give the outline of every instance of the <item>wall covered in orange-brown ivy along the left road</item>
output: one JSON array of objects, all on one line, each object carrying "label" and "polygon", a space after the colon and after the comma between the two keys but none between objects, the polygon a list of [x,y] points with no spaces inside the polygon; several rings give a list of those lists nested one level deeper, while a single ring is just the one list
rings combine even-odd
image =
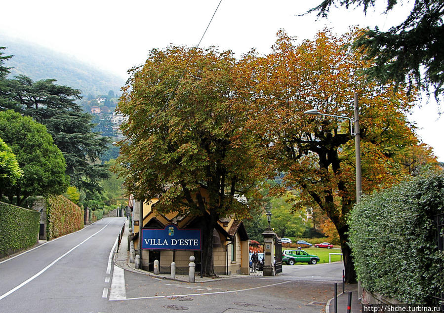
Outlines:
[{"label": "wall covered in orange-brown ivy along the left road", "polygon": [[64,196],[48,196],[46,203],[48,240],[83,228],[83,212],[74,202]]}]

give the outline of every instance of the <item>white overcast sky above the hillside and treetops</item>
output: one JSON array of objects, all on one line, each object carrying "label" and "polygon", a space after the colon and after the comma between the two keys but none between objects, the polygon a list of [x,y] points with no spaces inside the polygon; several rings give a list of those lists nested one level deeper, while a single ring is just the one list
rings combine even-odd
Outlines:
[{"label": "white overcast sky above the hillside and treetops", "polygon": [[[201,47],[231,49],[238,56],[251,48],[270,52],[276,33],[284,29],[298,39],[313,39],[324,27],[337,34],[349,26],[379,26],[387,30],[405,19],[412,3],[387,15],[380,7],[331,9],[328,19],[297,16],[320,0],[222,0]],[[403,1],[405,2],[405,1]],[[409,1],[413,2],[413,1]],[[1,4],[0,32],[68,54],[126,78],[126,71],[145,61],[151,48],[168,44],[196,46],[219,0],[13,0]],[[0,42],[1,45],[1,42]],[[353,97],[353,95],[350,95]],[[444,161],[443,117],[435,101],[412,115],[418,134]]]}]

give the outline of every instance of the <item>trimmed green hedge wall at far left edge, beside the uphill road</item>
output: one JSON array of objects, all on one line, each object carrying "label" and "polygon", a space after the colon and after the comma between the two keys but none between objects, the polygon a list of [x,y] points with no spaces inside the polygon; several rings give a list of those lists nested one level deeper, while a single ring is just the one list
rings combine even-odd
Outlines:
[{"label": "trimmed green hedge wall at far left edge, beside the uphill road", "polygon": [[39,229],[39,212],[0,202],[0,257],[35,245]]}]

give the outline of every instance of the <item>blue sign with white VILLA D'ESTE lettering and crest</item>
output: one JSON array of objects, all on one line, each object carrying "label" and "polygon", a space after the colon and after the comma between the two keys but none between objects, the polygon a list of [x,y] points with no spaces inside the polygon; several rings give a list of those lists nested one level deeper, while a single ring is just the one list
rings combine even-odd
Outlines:
[{"label": "blue sign with white VILLA D'ESTE lettering and crest", "polygon": [[142,228],[142,249],[201,250],[201,230],[179,229],[174,224],[164,229]]}]

